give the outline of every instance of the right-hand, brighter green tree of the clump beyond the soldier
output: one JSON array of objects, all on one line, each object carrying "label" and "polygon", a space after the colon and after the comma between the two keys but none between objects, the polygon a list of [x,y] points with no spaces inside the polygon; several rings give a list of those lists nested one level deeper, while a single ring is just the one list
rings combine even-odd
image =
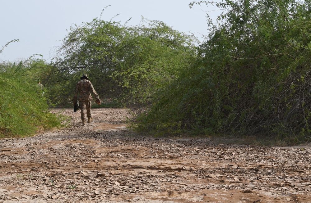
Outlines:
[{"label": "right-hand, brighter green tree of the clump beyond the soldier", "polygon": [[189,66],[195,49],[189,36],[161,21],[143,19],[140,27],[129,30],[131,35],[123,39],[118,51],[123,60],[112,78],[125,91],[124,100],[150,102],[154,93]]}]

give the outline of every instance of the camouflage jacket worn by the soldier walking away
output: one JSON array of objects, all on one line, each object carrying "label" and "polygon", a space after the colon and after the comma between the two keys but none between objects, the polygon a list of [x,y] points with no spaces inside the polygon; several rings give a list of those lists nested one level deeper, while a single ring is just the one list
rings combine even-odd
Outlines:
[{"label": "camouflage jacket worn by the soldier walking away", "polygon": [[91,94],[99,99],[98,94],[95,92],[95,89],[90,81],[87,79],[80,80],[75,88],[75,93],[73,95],[73,101],[77,101],[77,96],[79,93],[79,101],[92,101]]}]

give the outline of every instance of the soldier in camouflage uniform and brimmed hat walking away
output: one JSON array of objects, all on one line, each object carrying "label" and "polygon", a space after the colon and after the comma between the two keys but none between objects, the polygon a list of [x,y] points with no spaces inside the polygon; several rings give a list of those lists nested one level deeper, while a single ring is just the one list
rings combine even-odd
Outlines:
[{"label": "soldier in camouflage uniform and brimmed hat walking away", "polygon": [[80,110],[81,110],[81,119],[82,125],[86,125],[85,119],[85,109],[86,109],[86,116],[87,116],[87,123],[91,123],[93,118],[91,116],[91,101],[93,100],[91,94],[95,97],[95,102],[100,105],[100,99],[98,94],[95,92],[95,89],[92,83],[89,81],[89,78],[86,74],[82,74],[80,77],[80,81],[77,83],[75,88],[75,93],[73,95],[73,105],[77,102],[77,96],[79,93],[79,103],[80,103]]}]

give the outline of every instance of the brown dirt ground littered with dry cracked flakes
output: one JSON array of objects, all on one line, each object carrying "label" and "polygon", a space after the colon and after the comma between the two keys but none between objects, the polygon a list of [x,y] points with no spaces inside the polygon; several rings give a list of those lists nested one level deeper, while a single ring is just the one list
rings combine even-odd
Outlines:
[{"label": "brown dirt ground littered with dry cracked flakes", "polygon": [[142,137],[124,109],[86,126],[62,113],[66,129],[0,140],[0,202],[311,202],[310,147]]}]

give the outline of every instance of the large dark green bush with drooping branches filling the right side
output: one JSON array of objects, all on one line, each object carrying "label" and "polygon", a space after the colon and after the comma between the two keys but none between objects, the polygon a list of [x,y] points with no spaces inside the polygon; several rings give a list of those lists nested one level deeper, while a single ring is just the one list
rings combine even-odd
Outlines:
[{"label": "large dark green bush with drooping branches filling the right side", "polygon": [[225,0],[197,62],[138,117],[139,131],[310,137],[310,1]]}]

